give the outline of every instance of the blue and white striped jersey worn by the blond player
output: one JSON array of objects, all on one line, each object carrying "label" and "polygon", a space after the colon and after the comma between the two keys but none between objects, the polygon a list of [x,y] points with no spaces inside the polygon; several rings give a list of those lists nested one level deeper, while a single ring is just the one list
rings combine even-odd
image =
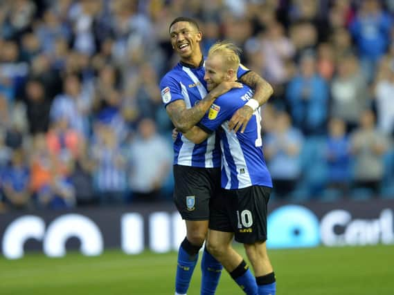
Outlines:
[{"label": "blue and white striped jersey worn by the blond player", "polygon": [[198,124],[207,133],[217,130],[216,134],[220,136],[224,189],[242,189],[252,185],[272,187],[262,151],[260,108],[253,113],[244,133],[234,133],[229,129],[232,115],[252,97],[253,91],[246,85],[231,89],[215,100]]}]

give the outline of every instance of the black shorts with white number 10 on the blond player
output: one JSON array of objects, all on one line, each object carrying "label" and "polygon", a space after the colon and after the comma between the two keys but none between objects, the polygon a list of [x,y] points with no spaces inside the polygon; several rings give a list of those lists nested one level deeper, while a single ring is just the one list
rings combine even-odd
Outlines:
[{"label": "black shorts with white number 10 on the blond player", "polygon": [[233,232],[235,240],[253,244],[267,240],[267,204],[270,187],[252,186],[244,189],[222,189],[211,206],[209,228]]}]

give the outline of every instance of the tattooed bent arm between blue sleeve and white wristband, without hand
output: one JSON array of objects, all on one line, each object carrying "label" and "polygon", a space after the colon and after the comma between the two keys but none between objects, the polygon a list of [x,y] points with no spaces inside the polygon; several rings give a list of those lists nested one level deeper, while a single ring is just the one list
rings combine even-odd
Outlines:
[{"label": "tattooed bent arm between blue sleeve and white wristband, without hand", "polygon": [[274,93],[274,89],[272,88],[271,84],[265,81],[265,79],[262,79],[260,75],[253,71],[243,75],[240,78],[240,81],[253,89],[253,99],[256,99],[260,106],[265,104],[269,97],[271,97],[272,93]]}]

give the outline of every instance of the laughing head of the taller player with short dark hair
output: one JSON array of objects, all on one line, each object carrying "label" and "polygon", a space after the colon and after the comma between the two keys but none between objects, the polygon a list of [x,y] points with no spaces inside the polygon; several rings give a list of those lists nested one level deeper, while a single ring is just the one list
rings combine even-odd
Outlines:
[{"label": "laughing head of the taller player with short dark hair", "polygon": [[189,62],[193,59],[201,60],[202,53],[199,42],[202,33],[188,21],[179,21],[170,28],[171,45],[181,57],[181,61]]}]

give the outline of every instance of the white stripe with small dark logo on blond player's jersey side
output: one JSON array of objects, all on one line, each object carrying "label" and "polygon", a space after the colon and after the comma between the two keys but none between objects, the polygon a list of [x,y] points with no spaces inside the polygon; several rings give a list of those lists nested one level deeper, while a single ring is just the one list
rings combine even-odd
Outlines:
[{"label": "white stripe with small dark logo on blond player's jersey side", "polygon": [[[238,178],[238,189],[243,189],[244,187],[251,187],[251,177],[249,175],[249,170],[247,166],[247,162],[244,158],[244,153],[242,152],[240,141],[237,138],[237,135],[229,129],[229,122],[226,121],[222,124],[222,127],[225,131],[227,142],[229,142],[229,149],[231,153],[231,157],[234,160],[235,167],[237,169],[237,178]],[[243,169],[244,173],[240,173],[241,169]]]}]

